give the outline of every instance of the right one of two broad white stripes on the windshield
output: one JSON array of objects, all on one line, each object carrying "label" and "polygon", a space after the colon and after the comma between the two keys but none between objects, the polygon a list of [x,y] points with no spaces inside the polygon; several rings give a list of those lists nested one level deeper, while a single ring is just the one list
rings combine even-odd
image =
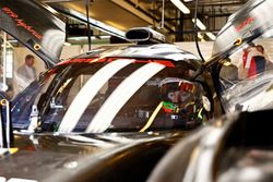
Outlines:
[{"label": "right one of two broad white stripes on the windshield", "polygon": [[104,102],[88,128],[87,133],[102,133],[109,128],[112,119],[131,98],[131,96],[153,75],[163,70],[165,65],[158,63],[149,63],[133,72],[124,80],[115,92]]}]

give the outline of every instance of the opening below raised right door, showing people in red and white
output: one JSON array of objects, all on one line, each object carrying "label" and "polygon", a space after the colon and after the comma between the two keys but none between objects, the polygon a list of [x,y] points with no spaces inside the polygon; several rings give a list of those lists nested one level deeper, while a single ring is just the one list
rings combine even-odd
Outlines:
[{"label": "opening below raised right door, showing people in red and white", "polygon": [[271,39],[261,38],[223,60],[219,72],[223,90],[240,81],[253,81],[273,69]]}]

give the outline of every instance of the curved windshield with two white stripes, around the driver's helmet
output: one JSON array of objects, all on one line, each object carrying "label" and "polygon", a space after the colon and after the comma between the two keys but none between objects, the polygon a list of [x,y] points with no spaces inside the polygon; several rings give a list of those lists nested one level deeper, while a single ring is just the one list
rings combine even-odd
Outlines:
[{"label": "curved windshield with two white stripes, around the driver's helmet", "polygon": [[45,74],[47,84],[43,84],[34,104],[39,110],[43,131],[181,129],[188,121],[201,123],[204,112],[201,102],[191,106],[192,114],[199,118],[166,112],[158,86],[165,78],[189,78],[194,72],[186,62],[174,64],[166,60],[68,63]]}]

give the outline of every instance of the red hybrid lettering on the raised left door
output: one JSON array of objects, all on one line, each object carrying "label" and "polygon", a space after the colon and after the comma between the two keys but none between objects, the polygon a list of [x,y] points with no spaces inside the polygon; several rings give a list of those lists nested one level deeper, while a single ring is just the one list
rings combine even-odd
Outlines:
[{"label": "red hybrid lettering on the raised left door", "polygon": [[16,13],[14,13],[10,8],[4,7],[4,8],[2,8],[2,11],[5,14],[8,14],[10,17],[12,17],[16,22],[17,26],[23,27],[24,29],[29,32],[32,35],[34,35],[38,39],[43,38],[43,36],[40,34],[38,34],[35,29],[33,29],[33,27],[31,25],[26,24],[23,19],[20,19],[19,15]]}]

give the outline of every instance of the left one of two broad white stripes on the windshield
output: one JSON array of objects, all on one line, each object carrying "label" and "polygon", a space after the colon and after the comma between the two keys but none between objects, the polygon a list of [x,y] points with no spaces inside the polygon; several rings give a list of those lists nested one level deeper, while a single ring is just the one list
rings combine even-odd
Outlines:
[{"label": "left one of two broad white stripes on the windshield", "polygon": [[104,68],[98,70],[82,87],[78,93],[68,111],[66,112],[61,124],[58,129],[60,133],[71,132],[83,112],[96,96],[98,90],[107,83],[107,81],[115,75],[122,68],[127,66],[134,60],[117,60],[106,64]]}]

